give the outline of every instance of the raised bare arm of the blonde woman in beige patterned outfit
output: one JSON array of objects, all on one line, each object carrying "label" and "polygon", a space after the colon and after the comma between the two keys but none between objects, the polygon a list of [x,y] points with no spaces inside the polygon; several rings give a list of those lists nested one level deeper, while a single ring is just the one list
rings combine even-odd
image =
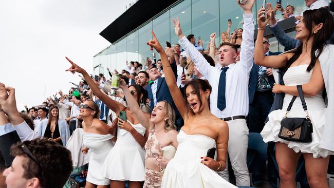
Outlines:
[{"label": "raised bare arm of the blonde woman in beige patterned outfit", "polygon": [[135,113],[139,122],[146,128],[151,129],[153,127],[153,123],[150,121],[150,118],[140,109],[136,99],[131,95],[130,90],[128,89],[125,81],[120,79],[119,86],[123,90],[123,94],[127,101],[127,105],[130,107],[131,111]]}]

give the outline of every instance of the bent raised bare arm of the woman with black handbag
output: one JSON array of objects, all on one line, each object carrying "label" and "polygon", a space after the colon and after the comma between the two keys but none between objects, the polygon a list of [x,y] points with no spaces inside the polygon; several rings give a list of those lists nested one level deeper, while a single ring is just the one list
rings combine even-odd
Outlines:
[{"label": "bent raised bare arm of the woman with black handbag", "polygon": [[[269,14],[271,14],[272,10],[268,10],[267,15],[263,15],[265,13],[265,9],[261,8],[257,13],[257,37],[255,42],[255,50],[254,50],[254,62],[256,65],[272,67],[272,68],[281,68],[285,67],[286,62],[288,61],[288,54],[282,55],[270,55],[265,56],[263,50],[263,33],[266,25],[269,21]],[[263,20],[265,18],[265,20]]]}]

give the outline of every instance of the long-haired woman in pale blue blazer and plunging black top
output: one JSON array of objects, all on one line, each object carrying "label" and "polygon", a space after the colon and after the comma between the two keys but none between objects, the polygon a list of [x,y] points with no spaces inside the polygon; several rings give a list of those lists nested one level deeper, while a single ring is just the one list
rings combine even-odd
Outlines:
[{"label": "long-haired woman in pale blue blazer and plunging black top", "polygon": [[50,107],[49,116],[48,121],[41,122],[40,130],[38,131],[39,136],[58,142],[65,147],[70,137],[67,122],[59,119],[59,109],[57,106]]}]

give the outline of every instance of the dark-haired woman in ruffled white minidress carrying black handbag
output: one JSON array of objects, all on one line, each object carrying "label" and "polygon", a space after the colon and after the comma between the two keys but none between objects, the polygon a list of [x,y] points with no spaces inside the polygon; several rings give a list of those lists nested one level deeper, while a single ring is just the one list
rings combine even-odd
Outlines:
[{"label": "dark-haired woman in ruffled white minidress carrying black handbag", "polygon": [[[334,21],[326,9],[307,10],[301,22],[296,25],[296,39],[302,44],[295,52],[279,56],[263,55],[263,31],[269,21],[272,10],[263,15],[264,9],[258,11],[258,33],[255,44],[255,64],[281,68],[286,72],[283,80],[285,85],[275,84],[273,92],[284,92],[282,110],[275,110],[269,114],[269,121],[263,128],[261,135],[265,142],[276,142],[276,160],[279,165],[281,187],[296,187],[295,172],[301,155],[305,159],[308,183],[311,187],[328,187],[327,167],[329,155],[333,152],[319,147],[322,139],[326,105],[322,98],[324,80],[318,60],[324,44],[334,30]],[[265,21],[264,21],[264,20]],[[316,54],[317,51],[317,54]],[[281,120],[293,96],[297,96],[287,117],[306,117],[296,85],[302,85],[308,114],[313,124],[312,142],[293,142],[278,137]]]}]

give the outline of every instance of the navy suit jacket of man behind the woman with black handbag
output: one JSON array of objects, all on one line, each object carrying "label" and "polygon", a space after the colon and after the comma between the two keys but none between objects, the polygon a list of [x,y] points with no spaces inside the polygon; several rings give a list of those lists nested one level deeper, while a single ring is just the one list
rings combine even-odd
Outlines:
[{"label": "navy suit jacket of man behind the woman with black handbag", "polygon": [[[279,55],[281,52],[271,52],[269,51],[269,55]],[[253,103],[254,95],[255,95],[255,87],[257,83],[258,76],[258,65],[253,64],[252,70],[249,74],[249,90],[248,90],[248,98],[249,104]],[[273,76],[268,77],[269,84],[271,88],[273,87],[275,80]],[[272,93],[272,97],[274,97],[274,93]]]}]

